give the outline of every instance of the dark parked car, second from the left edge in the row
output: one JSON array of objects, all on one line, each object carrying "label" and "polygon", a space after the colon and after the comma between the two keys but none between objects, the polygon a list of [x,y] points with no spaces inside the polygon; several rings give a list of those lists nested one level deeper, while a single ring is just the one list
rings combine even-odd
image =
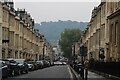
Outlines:
[{"label": "dark parked car, second from the left edge in the row", "polygon": [[5,64],[8,66],[8,74],[9,76],[20,75],[20,68],[16,61],[13,59],[4,59]]}]

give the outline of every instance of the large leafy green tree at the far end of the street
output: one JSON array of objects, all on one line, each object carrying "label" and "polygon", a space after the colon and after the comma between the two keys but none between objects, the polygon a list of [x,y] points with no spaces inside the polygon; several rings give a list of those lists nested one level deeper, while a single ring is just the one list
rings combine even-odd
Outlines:
[{"label": "large leafy green tree at the far end of the street", "polygon": [[66,28],[61,33],[60,45],[63,51],[63,56],[67,58],[72,57],[72,44],[77,42],[81,37],[82,31],[79,28]]}]

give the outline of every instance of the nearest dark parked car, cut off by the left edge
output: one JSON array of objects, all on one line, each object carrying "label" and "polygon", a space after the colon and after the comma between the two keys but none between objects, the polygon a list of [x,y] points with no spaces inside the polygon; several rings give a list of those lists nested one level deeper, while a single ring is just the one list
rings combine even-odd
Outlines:
[{"label": "nearest dark parked car, cut off by the left edge", "polygon": [[0,61],[0,78],[8,77],[8,66],[4,61]]}]

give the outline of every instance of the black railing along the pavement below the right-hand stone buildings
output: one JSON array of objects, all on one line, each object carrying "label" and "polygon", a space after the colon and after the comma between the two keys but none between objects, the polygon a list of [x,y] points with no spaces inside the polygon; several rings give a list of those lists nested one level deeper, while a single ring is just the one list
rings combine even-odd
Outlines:
[{"label": "black railing along the pavement below the right-hand stone buildings", "polygon": [[120,77],[120,62],[94,62],[93,64],[90,64],[90,69]]}]

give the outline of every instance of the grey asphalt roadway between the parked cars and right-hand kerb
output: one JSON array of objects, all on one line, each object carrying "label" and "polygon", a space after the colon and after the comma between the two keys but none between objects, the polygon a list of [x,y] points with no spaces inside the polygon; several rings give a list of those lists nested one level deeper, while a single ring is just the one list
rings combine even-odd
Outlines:
[{"label": "grey asphalt roadway between the parked cars and right-hand kerb", "polygon": [[13,79],[62,79],[62,80],[70,80],[72,79],[72,73],[68,66],[53,66],[44,69],[40,69],[37,71],[29,72],[28,74],[23,74],[16,77],[11,77],[5,80],[13,80]]}]

